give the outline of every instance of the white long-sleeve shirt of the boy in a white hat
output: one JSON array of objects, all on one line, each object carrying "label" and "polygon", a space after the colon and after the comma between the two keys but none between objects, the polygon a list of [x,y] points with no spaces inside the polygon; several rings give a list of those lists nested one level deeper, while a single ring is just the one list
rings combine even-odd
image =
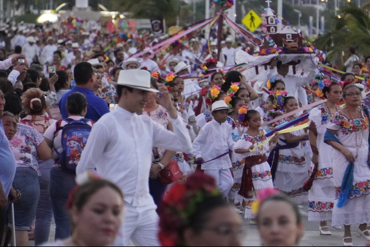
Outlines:
[{"label": "white long-sleeve shirt of the boy in a white hat", "polygon": [[[234,150],[236,142],[232,139],[231,128],[230,124],[226,122],[220,124],[215,119],[206,123],[193,142],[195,158],[202,157],[204,161],[208,161],[228,152],[229,149]],[[203,170],[227,168],[231,168],[231,159],[228,154],[202,164]]]}]

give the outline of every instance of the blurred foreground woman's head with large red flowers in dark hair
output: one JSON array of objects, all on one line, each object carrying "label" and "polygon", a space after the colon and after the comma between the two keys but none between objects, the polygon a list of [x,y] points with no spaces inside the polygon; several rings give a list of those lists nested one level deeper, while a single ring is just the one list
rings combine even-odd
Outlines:
[{"label": "blurred foreground woman's head with large red flowers in dark hair", "polygon": [[240,246],[242,220],[223,199],[215,180],[189,175],[165,194],[159,215],[161,246]]}]

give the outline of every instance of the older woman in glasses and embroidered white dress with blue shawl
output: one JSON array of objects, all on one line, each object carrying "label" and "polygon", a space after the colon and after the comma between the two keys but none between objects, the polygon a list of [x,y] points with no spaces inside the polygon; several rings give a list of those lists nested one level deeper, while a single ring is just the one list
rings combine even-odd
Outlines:
[{"label": "older woman in glasses and embroidered white dress with blue shawl", "polygon": [[[337,111],[324,141],[334,149],[333,170],[336,199],[333,226],[344,225],[344,246],[353,246],[351,225],[359,226],[358,236],[370,241],[370,152],[369,108],[361,108],[361,92],[356,84],[343,88],[346,105]],[[346,193],[347,192],[347,193]]]}]

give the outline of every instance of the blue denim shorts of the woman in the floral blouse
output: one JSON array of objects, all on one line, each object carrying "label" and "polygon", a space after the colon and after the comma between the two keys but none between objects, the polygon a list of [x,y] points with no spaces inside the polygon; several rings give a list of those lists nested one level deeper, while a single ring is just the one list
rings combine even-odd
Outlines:
[{"label": "blue denim shorts of the woman in the floral blouse", "polygon": [[[17,167],[13,188],[22,193],[19,201],[14,203],[14,224],[16,230],[31,230],[35,217],[40,184],[37,172],[30,167]],[[8,226],[11,226],[11,209],[8,207]]]}]

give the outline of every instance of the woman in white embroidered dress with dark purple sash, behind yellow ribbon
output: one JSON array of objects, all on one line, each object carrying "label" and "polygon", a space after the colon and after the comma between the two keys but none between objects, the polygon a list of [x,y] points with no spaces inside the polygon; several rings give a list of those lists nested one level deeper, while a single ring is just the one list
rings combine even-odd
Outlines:
[{"label": "woman in white embroidered dress with dark purple sash, behind yellow ribbon", "polygon": [[[279,104],[283,102],[286,113],[298,109],[297,100],[292,96],[286,97],[286,92],[278,96],[278,101]],[[293,119],[294,115],[286,118],[286,121]],[[300,143],[305,138],[308,138],[308,134],[303,129],[284,133],[268,158],[274,186],[293,197],[298,204],[308,201],[308,191],[303,189],[303,183],[309,178],[309,166]]]}]

